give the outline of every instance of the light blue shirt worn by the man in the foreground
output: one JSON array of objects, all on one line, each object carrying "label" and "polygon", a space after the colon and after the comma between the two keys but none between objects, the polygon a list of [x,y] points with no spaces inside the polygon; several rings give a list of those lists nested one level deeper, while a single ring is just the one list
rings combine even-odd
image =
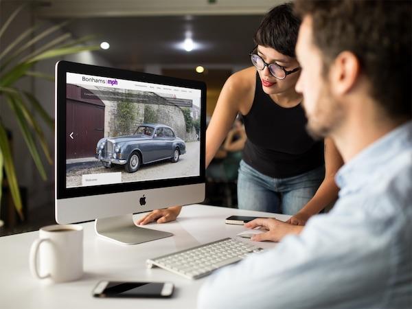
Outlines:
[{"label": "light blue shirt worn by the man in the foreground", "polygon": [[207,279],[199,308],[412,308],[412,122],[336,174],[339,200],[299,236]]}]

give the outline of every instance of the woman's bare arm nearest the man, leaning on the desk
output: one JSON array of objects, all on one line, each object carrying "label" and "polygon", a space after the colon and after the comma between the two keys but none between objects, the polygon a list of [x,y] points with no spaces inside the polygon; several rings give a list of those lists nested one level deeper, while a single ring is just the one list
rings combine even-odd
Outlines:
[{"label": "woman's bare arm nearest the man, leaning on the desk", "polygon": [[336,183],[334,182],[334,176],[342,165],[343,159],[339,154],[336,146],[334,145],[334,142],[332,141],[332,139],[326,138],[325,179],[323,179],[313,198],[311,198],[310,201],[297,212],[297,214],[295,214],[286,222],[292,223],[293,225],[305,225],[306,221],[311,216],[318,214],[319,211],[336,200],[339,192],[339,187],[337,187]]}]

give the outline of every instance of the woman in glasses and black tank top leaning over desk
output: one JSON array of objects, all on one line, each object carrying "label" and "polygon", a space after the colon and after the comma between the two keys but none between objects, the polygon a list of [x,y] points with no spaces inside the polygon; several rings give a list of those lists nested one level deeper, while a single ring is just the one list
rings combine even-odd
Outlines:
[{"label": "woman in glasses and black tank top leaning over desk", "polygon": [[[206,166],[241,113],[248,139],[240,162],[238,207],[290,214],[289,223],[304,225],[336,199],[334,174],[343,161],[332,141],[314,141],[306,133],[302,96],[295,91],[300,21],[292,10],[286,3],[264,16],[250,54],[253,67],[225,82],[207,128]],[[168,222],[180,211],[180,206],[158,209],[137,223]]]}]

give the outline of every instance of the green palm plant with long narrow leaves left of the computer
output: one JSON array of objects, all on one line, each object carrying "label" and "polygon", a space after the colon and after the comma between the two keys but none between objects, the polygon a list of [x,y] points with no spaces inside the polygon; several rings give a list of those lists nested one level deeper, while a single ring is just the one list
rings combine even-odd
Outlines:
[{"label": "green palm plant with long narrow leaves left of the computer", "polygon": [[[0,27],[0,39],[24,7],[25,5],[22,5],[17,8]],[[40,33],[38,26],[34,25],[19,34],[10,45],[0,49],[0,97],[4,98],[4,104],[8,105],[15,121],[19,124],[25,144],[43,180],[47,179],[47,175],[40,153],[43,152],[49,164],[52,164],[53,161],[43,129],[34,114],[38,115],[39,120],[47,124],[50,130],[54,129],[54,119],[48,115],[32,93],[20,89],[16,83],[27,77],[45,78],[53,81],[54,76],[34,71],[34,65],[48,58],[99,49],[98,45],[84,45],[91,40],[91,36],[73,39],[69,33],[61,34],[65,24],[67,22],[49,27]],[[59,35],[56,36],[57,33]],[[46,43],[44,43],[45,41]],[[42,43],[40,47],[37,46],[39,42]],[[40,153],[38,146],[41,148]],[[5,175],[3,175],[3,171]],[[23,220],[21,196],[10,141],[0,115],[0,201],[4,176],[6,176],[5,185],[10,190],[16,211]]]}]

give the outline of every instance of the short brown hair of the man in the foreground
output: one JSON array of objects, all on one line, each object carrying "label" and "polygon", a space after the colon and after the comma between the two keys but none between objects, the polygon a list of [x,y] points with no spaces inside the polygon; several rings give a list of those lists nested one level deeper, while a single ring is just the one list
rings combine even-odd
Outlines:
[{"label": "short brown hair of the man in the foreground", "polygon": [[297,0],[295,13],[312,17],[314,45],[323,72],[334,58],[352,52],[371,83],[371,96],[392,117],[411,117],[410,1]]}]

